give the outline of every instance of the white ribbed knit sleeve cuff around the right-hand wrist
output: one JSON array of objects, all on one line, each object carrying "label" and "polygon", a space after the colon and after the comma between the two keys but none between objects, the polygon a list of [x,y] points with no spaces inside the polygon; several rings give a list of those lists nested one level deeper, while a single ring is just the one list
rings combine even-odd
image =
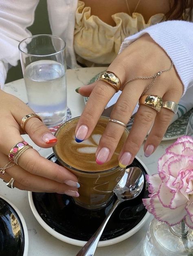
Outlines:
[{"label": "white ribbed knit sleeve cuff around the right-hand wrist", "polygon": [[150,26],[125,38],[120,52],[145,33],[169,55],[184,85],[185,93],[193,85],[193,22],[172,20]]}]

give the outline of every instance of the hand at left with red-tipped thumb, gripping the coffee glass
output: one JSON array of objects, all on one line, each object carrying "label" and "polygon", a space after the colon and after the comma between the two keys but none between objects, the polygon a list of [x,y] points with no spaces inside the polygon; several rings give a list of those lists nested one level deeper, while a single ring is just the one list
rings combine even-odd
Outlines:
[{"label": "hand at left with red-tipped thumb, gripping the coffee glass", "polygon": [[[4,167],[8,162],[8,154],[11,148],[23,138],[20,134],[22,117],[34,113],[17,97],[0,90],[0,167]],[[26,133],[31,139],[42,148],[53,147],[57,139],[48,128],[38,119],[31,118],[26,122]],[[77,177],[65,168],[41,157],[32,148],[26,150],[19,158],[18,165],[5,170],[5,174],[0,174],[0,178],[9,182],[15,179],[14,186],[21,190],[34,192],[56,192],[79,196],[77,188]]]}]

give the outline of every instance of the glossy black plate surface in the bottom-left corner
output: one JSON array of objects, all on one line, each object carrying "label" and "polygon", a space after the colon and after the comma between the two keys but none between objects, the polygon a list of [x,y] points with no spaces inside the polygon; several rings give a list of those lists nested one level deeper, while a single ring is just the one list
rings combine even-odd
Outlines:
[{"label": "glossy black plate surface in the bottom-left corner", "polygon": [[0,197],[0,256],[23,256],[24,230],[13,207]]}]

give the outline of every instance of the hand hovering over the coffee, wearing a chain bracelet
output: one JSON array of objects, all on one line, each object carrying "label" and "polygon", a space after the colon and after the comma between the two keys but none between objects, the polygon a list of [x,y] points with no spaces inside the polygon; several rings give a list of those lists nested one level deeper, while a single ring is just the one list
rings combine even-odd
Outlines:
[{"label": "hand hovering over the coffee, wearing a chain bracelet", "polygon": [[[124,49],[107,70],[115,73],[123,86],[129,79],[152,76],[170,66],[171,60],[165,51],[148,34],[145,34]],[[110,118],[127,124],[141,94],[151,82],[151,79],[136,79],[129,82],[114,105]],[[163,101],[178,103],[182,91],[182,82],[173,67],[170,71],[162,73],[145,94],[158,95]],[[102,80],[79,88],[81,95],[90,97],[77,124],[75,132],[78,139],[87,139],[90,136],[107,102],[115,92],[112,86]],[[174,113],[166,108],[162,108],[157,113],[153,108],[140,105],[118,158],[120,166],[124,167],[132,163],[153,124],[144,145],[145,156],[149,157],[162,140],[173,115]],[[111,159],[123,130],[124,127],[121,125],[113,122],[107,124],[96,150],[96,162],[105,163]]]}]

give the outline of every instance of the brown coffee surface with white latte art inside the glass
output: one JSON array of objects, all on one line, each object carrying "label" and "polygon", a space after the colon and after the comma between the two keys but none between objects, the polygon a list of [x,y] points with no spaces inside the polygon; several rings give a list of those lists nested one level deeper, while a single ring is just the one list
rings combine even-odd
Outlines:
[{"label": "brown coffee surface with white latte art inside the glass", "polygon": [[78,120],[72,119],[57,134],[58,143],[55,150],[59,158],[69,166],[84,171],[103,171],[118,166],[118,154],[127,137],[127,132],[123,133],[112,159],[103,165],[96,163],[95,152],[107,121],[108,119],[101,117],[91,136],[87,140],[77,143],[75,141],[75,128]]}]

